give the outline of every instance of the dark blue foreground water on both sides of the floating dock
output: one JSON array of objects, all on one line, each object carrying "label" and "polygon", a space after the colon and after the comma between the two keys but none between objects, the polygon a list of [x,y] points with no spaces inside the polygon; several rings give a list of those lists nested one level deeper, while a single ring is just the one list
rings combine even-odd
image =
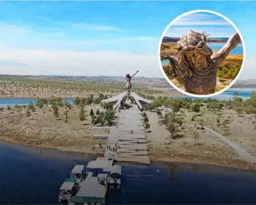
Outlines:
[{"label": "dark blue foreground water on both sides of the floating dock", "polygon": [[[58,204],[59,187],[73,166],[95,159],[41,151],[0,143],[0,204]],[[119,165],[122,188],[109,190],[108,204],[256,203],[255,171],[188,164]]]}]

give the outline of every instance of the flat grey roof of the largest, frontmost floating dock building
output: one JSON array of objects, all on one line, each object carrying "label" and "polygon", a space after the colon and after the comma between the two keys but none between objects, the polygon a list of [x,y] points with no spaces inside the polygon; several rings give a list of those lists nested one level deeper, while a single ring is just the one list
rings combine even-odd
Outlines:
[{"label": "flat grey roof of the largest, frontmost floating dock building", "polygon": [[89,177],[80,184],[80,189],[77,192],[76,197],[97,197],[105,198],[107,193],[107,187],[101,185],[98,182],[98,178]]}]

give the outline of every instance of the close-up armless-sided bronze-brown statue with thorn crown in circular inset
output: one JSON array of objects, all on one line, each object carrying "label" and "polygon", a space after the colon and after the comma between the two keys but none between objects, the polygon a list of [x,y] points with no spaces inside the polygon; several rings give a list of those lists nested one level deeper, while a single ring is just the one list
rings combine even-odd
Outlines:
[{"label": "close-up armless-sided bronze-brown statue with thorn crown in circular inset", "polygon": [[215,93],[218,65],[241,43],[238,32],[235,32],[223,48],[213,55],[212,49],[207,45],[207,36],[204,32],[187,32],[178,41],[178,57],[165,56],[182,90],[188,93]]}]

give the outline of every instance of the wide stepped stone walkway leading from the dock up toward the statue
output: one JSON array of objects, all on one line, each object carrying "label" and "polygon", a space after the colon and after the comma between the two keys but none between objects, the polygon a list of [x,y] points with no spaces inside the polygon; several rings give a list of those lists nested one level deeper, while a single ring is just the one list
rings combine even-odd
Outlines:
[{"label": "wide stepped stone walkway leading from the dock up toward the statue", "polygon": [[141,112],[137,106],[133,106],[118,113],[118,127],[110,130],[107,146],[119,147],[115,153],[118,162],[150,164]]}]

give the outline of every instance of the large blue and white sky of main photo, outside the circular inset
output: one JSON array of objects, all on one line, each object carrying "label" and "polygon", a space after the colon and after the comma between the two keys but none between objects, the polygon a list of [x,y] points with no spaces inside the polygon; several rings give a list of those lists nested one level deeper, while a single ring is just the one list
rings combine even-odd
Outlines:
[{"label": "large blue and white sky of main photo, outside the circular inset", "polygon": [[137,76],[164,77],[160,37],[173,19],[197,9],[236,24],[246,45],[239,79],[256,79],[252,1],[0,1],[0,73],[125,76],[139,70]]}]

